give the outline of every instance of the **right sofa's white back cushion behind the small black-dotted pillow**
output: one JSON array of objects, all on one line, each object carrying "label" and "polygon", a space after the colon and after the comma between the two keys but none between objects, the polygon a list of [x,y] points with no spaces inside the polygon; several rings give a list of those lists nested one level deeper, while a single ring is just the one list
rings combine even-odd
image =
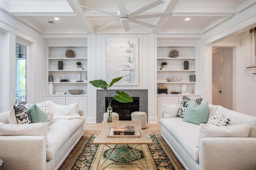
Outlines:
[{"label": "right sofa's white back cushion behind the small black-dotted pillow", "polygon": [[230,117],[232,125],[249,125],[250,132],[248,137],[256,137],[256,117],[238,113],[236,111],[226,109],[222,106],[218,106],[216,111],[218,111],[223,118]]}]

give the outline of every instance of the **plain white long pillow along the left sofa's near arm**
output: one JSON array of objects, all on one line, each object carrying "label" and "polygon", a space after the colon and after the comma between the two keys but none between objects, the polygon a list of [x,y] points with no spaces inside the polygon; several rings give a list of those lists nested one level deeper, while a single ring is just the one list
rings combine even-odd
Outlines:
[{"label": "plain white long pillow along the left sofa's near arm", "polygon": [[[47,123],[4,124],[0,123],[0,136],[44,136],[47,140]],[[47,140],[48,145],[48,140]]]}]

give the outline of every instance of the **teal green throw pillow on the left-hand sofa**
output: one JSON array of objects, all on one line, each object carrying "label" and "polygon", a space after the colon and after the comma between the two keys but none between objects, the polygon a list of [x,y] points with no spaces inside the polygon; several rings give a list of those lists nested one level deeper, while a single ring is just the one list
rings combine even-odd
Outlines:
[{"label": "teal green throw pillow on the left-hand sofa", "polygon": [[36,104],[33,104],[28,109],[31,123],[47,122],[47,115],[38,107]]}]

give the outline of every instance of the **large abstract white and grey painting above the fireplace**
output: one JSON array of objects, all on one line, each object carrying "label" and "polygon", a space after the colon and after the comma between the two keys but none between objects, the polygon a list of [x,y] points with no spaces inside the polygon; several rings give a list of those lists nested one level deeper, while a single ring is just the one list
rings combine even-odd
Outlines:
[{"label": "large abstract white and grey painting above the fireplace", "polygon": [[115,86],[139,85],[138,38],[106,39],[106,79],[123,77]]}]

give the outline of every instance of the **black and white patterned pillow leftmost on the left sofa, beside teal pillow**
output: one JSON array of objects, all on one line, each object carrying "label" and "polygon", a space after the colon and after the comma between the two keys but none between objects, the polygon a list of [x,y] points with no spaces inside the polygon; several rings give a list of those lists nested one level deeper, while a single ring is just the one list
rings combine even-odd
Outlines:
[{"label": "black and white patterned pillow leftmost on the left sofa, beside teal pillow", "polygon": [[14,105],[9,113],[9,123],[12,124],[28,124],[31,123],[28,109],[21,103]]}]

